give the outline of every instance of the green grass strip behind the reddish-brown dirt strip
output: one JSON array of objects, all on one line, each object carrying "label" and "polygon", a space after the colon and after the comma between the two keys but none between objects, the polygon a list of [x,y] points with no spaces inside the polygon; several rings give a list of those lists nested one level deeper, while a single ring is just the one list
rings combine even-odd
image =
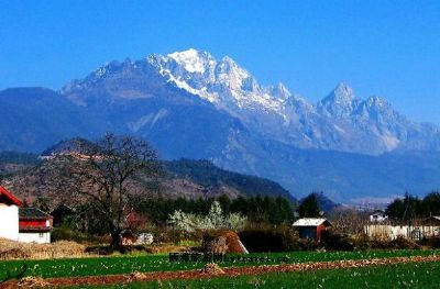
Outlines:
[{"label": "green grass strip behind the reddish-brown dirt strip", "polygon": [[[286,254],[270,254],[271,258],[287,256],[288,263],[327,262],[342,259],[370,259],[397,256],[440,255],[440,251],[373,251],[373,252],[293,252]],[[250,254],[246,256],[265,256]],[[226,266],[251,266],[274,263],[223,263]],[[169,263],[167,255],[112,256],[100,258],[46,259],[46,260],[10,260],[0,262],[0,280],[16,276],[26,270],[23,276],[75,277],[130,274],[133,271],[168,271],[187,270],[204,267],[205,263]],[[21,276],[20,276],[21,277]]]}]

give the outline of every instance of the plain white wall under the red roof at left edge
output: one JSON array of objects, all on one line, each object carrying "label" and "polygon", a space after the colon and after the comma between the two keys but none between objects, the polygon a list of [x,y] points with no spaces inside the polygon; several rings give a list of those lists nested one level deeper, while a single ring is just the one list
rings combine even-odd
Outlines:
[{"label": "plain white wall under the red roof at left edge", "polygon": [[19,240],[19,207],[0,203],[0,237]]}]

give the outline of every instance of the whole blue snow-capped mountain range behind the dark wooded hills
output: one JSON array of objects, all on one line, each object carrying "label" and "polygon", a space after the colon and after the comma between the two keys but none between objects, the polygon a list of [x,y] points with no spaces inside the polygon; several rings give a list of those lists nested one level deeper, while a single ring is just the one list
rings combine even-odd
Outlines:
[{"label": "whole blue snow-capped mountain range behind the dark wooded hills", "polygon": [[148,140],[166,159],[204,158],[340,202],[440,186],[440,130],[339,84],[318,103],[262,86],[230,57],[188,49],[111,62],[58,91],[0,92],[0,149],[40,153],[105,132]]}]

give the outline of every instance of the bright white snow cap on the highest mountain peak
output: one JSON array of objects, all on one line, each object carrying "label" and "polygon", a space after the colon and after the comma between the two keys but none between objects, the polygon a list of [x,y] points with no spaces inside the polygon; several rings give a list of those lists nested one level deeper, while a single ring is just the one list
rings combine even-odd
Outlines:
[{"label": "bright white snow cap on the highest mountain peak", "polygon": [[[169,82],[231,112],[238,109],[279,111],[282,108],[280,99],[272,95],[271,88],[261,87],[248,70],[228,56],[217,60],[207,52],[191,48],[166,56],[152,55],[147,62]],[[285,87],[275,93],[290,95]]]}]

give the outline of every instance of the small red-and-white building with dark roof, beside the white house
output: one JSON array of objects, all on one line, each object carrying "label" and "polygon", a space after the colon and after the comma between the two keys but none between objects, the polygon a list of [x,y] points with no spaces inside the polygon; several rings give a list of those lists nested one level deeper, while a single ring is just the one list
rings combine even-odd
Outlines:
[{"label": "small red-and-white building with dark roof, beside the white house", "polygon": [[19,242],[51,243],[51,232],[53,229],[52,215],[36,208],[20,208],[19,216]]}]

